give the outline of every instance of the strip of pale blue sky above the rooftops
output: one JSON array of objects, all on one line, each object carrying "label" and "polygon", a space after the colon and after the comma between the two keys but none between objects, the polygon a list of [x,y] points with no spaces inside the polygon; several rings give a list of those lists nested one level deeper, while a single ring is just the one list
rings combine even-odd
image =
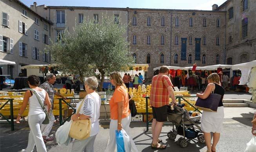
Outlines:
[{"label": "strip of pale blue sky above the rooftops", "polygon": [[226,0],[21,0],[25,5],[212,10]]}]

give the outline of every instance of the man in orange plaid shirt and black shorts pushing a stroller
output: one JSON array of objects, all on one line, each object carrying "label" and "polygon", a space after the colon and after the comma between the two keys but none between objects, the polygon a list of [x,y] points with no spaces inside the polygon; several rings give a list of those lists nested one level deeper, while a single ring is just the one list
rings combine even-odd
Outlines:
[{"label": "man in orange plaid shirt and black shorts pushing a stroller", "polygon": [[153,111],[153,122],[151,125],[153,141],[151,148],[165,149],[166,146],[159,144],[162,140],[158,137],[162,131],[163,122],[167,121],[167,106],[169,105],[169,97],[172,99],[172,105],[176,105],[173,86],[168,76],[169,68],[162,66],[159,74],[152,78],[150,104]]}]

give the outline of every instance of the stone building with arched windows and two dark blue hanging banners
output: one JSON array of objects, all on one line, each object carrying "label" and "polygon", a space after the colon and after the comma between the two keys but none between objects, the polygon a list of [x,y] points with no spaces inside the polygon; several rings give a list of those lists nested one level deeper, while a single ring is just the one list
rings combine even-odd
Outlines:
[{"label": "stone building with arched windows and two dark blue hanging banners", "polygon": [[128,9],[128,41],[138,64],[223,64],[225,11]]}]

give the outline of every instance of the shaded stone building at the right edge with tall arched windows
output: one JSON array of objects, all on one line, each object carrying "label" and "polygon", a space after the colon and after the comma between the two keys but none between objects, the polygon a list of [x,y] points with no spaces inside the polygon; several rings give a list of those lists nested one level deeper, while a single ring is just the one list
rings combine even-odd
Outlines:
[{"label": "shaded stone building at the right edge with tall arched windows", "polygon": [[214,4],[214,11],[226,11],[226,64],[240,64],[256,60],[256,1],[227,0]]}]

